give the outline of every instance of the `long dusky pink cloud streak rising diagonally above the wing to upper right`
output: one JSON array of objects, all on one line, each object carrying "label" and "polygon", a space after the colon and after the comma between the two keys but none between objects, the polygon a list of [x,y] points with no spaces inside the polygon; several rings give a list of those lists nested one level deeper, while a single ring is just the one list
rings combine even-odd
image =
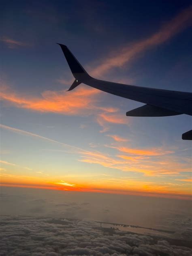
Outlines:
[{"label": "long dusky pink cloud streak rising diagonally above the wing to upper right", "polygon": [[115,49],[114,54],[105,57],[98,67],[90,70],[91,75],[99,77],[114,67],[122,67],[127,62],[133,59],[135,60],[141,52],[171,39],[177,33],[189,26],[191,22],[192,7],[190,6],[176,15],[170,22],[164,24],[158,32],[155,32],[150,37],[138,41],[137,43],[132,43],[132,45],[128,45],[122,49]]}]

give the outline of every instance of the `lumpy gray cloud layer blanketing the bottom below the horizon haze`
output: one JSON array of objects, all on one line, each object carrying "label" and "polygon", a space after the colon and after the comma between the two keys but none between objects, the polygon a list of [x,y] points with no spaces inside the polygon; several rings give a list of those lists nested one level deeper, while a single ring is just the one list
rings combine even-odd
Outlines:
[{"label": "lumpy gray cloud layer blanketing the bottom below the horizon haze", "polygon": [[42,217],[1,219],[1,256],[191,256],[176,240],[101,228],[88,220]]}]

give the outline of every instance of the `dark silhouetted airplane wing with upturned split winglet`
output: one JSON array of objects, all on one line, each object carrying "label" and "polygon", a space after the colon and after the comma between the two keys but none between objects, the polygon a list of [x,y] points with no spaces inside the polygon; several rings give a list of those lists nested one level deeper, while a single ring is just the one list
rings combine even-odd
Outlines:
[{"label": "dark silhouetted airplane wing with upturned split winglet", "polygon": [[[192,116],[192,93],[98,80],[85,71],[66,45],[59,43],[58,45],[62,48],[70,70],[75,77],[69,90],[73,90],[83,83],[113,95],[145,103],[142,107],[128,111],[126,116],[174,116],[180,114]],[[183,133],[182,138],[183,140],[192,140],[192,130],[188,131],[187,136]]]}]

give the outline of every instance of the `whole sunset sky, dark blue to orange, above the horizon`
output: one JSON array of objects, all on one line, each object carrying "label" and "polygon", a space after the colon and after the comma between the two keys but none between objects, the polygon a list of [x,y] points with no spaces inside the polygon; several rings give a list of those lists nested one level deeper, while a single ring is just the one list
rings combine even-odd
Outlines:
[{"label": "whole sunset sky, dark blue to orange, above the horizon", "polygon": [[190,1],[6,1],[0,10],[2,186],[190,199],[190,116],[127,117],[141,103],[93,77],[191,92]]}]

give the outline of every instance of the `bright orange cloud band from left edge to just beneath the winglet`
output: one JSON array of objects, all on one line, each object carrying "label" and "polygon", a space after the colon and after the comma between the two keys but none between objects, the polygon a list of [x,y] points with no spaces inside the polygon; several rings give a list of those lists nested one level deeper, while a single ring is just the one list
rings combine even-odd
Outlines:
[{"label": "bright orange cloud band from left edge to just beneath the winglet", "polygon": [[[17,95],[7,88],[3,88],[0,92],[0,99],[9,101],[9,103],[18,108],[72,115],[85,111],[88,112],[90,109],[97,109],[94,103],[96,102],[96,94],[98,93],[100,93],[99,90],[81,86],[78,90],[70,93],[64,90],[45,91],[42,93],[42,97],[28,98]],[[109,108],[109,111],[111,112],[111,108]]]}]

